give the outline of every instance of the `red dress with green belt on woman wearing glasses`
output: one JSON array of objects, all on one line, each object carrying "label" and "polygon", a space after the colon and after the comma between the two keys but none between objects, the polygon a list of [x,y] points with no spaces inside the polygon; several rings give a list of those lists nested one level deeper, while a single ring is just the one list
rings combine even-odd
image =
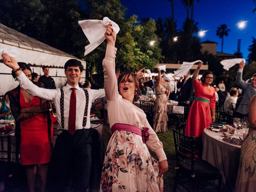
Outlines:
[{"label": "red dress with green belt on woman wearing glasses", "polygon": [[212,123],[211,108],[215,108],[215,90],[213,87],[206,87],[198,80],[193,81],[195,87],[194,96],[210,100],[205,101],[194,100],[188,114],[185,134],[188,136],[202,137],[204,128]]}]

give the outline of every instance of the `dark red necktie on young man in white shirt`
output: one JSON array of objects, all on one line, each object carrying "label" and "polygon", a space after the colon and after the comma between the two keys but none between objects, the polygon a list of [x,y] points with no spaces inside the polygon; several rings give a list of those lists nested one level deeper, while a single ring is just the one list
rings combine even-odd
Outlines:
[{"label": "dark red necktie on young man in white shirt", "polygon": [[76,88],[71,88],[68,117],[68,132],[73,135],[76,131]]}]

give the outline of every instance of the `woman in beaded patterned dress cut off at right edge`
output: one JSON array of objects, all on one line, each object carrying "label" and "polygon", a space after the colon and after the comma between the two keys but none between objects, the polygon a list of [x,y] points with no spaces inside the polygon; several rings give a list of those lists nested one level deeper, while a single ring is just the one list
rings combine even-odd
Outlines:
[{"label": "woman in beaded patterned dress cut off at right edge", "polygon": [[249,104],[249,132],[241,146],[236,192],[256,191],[256,95]]}]

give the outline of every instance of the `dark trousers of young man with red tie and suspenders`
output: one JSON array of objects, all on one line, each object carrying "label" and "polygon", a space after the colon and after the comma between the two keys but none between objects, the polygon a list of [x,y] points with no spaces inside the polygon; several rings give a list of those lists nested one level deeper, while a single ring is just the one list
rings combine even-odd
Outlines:
[{"label": "dark trousers of young man with red tie and suspenders", "polygon": [[85,192],[92,164],[90,129],[76,130],[74,135],[63,130],[56,139],[52,158],[54,192]]}]

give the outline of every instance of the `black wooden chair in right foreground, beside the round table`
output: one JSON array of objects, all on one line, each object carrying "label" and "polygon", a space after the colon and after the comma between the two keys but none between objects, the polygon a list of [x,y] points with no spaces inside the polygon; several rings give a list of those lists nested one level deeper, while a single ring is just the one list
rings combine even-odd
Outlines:
[{"label": "black wooden chair in right foreground, beside the round table", "polygon": [[[176,151],[174,192],[178,185],[187,191],[210,188],[218,188],[221,191],[222,175],[218,169],[205,160],[195,158],[196,138],[186,136],[176,129],[173,130],[173,136]],[[218,180],[218,186],[212,184],[212,180]]]}]

